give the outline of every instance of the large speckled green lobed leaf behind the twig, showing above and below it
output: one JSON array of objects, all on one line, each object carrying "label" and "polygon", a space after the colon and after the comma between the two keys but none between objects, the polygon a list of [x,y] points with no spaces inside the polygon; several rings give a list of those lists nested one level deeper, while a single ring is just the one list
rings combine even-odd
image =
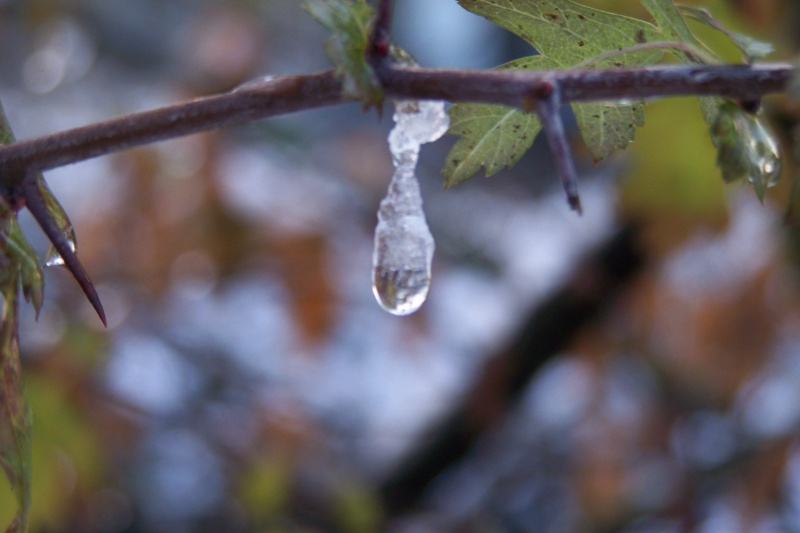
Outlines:
[{"label": "large speckled green lobed leaf behind the twig, showing above and below it", "polygon": [[[507,63],[509,70],[642,66],[657,62],[660,49],[637,49],[663,40],[658,28],[575,2],[460,0],[463,7],[516,33],[541,55]],[[608,54],[611,52],[612,54]],[[608,57],[593,59],[606,54]],[[639,103],[572,105],[584,142],[596,160],[625,148],[644,123]],[[450,110],[450,134],[462,138],[447,157],[445,186],[463,182],[483,166],[490,176],[513,166],[539,132],[536,117],[503,106],[456,104]]]}]

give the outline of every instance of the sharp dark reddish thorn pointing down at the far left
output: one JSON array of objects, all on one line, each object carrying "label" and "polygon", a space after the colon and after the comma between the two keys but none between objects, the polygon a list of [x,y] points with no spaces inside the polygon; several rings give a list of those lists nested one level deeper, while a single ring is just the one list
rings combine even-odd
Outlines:
[{"label": "sharp dark reddish thorn pointing down at the far left", "polygon": [[67,269],[69,269],[70,273],[72,273],[75,281],[78,282],[81,290],[83,290],[83,294],[86,295],[89,303],[92,304],[92,307],[94,307],[94,310],[97,312],[97,316],[100,317],[100,321],[103,323],[103,326],[108,327],[108,323],[106,322],[106,313],[103,310],[103,304],[100,303],[100,296],[98,296],[97,290],[95,290],[94,284],[89,278],[89,275],[86,273],[86,270],[84,270],[83,265],[81,265],[81,262],[78,261],[78,256],[72,251],[72,247],[67,241],[66,236],[56,225],[55,221],[50,216],[50,213],[48,213],[47,206],[40,195],[35,180],[25,181],[25,184],[22,187],[22,198],[25,200],[25,205],[27,206],[28,211],[31,212],[31,215],[33,215],[33,218],[36,220],[36,222],[39,223],[39,227],[42,228],[44,234],[64,260],[64,265],[67,267]]}]

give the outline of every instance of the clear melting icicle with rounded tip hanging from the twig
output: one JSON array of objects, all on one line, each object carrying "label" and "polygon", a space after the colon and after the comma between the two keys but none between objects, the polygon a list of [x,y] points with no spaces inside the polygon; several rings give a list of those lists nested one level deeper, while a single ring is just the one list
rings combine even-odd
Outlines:
[{"label": "clear melting icicle with rounded tip hanging from the twig", "polygon": [[372,291],[385,310],[408,315],[428,296],[435,248],[415,175],[419,147],[444,135],[450,121],[444,103],[430,101],[396,102],[394,120],[389,150],[395,172],[378,209]]}]

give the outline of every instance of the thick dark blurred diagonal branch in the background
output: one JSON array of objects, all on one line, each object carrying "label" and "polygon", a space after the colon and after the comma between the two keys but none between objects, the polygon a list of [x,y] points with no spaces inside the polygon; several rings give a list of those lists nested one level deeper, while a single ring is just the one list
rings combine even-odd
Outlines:
[{"label": "thick dark blurred diagonal branch in the background", "polygon": [[381,484],[388,520],[417,509],[431,482],[502,423],[536,372],[567,349],[576,333],[631,282],[645,262],[637,242],[636,227],[622,229],[579,265],[560,290],[537,305],[516,339],[477,373],[470,394],[433,430],[434,437],[401,461]]}]

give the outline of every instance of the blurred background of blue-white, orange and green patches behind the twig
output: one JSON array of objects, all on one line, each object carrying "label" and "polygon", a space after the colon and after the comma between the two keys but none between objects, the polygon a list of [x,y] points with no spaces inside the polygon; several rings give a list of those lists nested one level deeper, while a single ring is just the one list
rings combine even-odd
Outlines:
[{"label": "blurred background of blue-white, orange and green patches behind the twig", "polygon": [[[797,2],[702,5],[775,60],[800,44]],[[0,98],[30,138],[326,69],[324,37],[290,0],[2,0]],[[531,53],[454,0],[398,1],[395,40],[425,66]],[[47,173],[109,327],[57,268],[22,311],[31,531],[800,531],[800,109],[764,106],[787,157],[763,206],[691,99],[597,165],[576,135],[583,217],[542,139],[448,191],[453,139],[426,145],[433,282],[402,318],[370,287],[388,112]],[[0,523],[13,502],[0,483]]]}]

